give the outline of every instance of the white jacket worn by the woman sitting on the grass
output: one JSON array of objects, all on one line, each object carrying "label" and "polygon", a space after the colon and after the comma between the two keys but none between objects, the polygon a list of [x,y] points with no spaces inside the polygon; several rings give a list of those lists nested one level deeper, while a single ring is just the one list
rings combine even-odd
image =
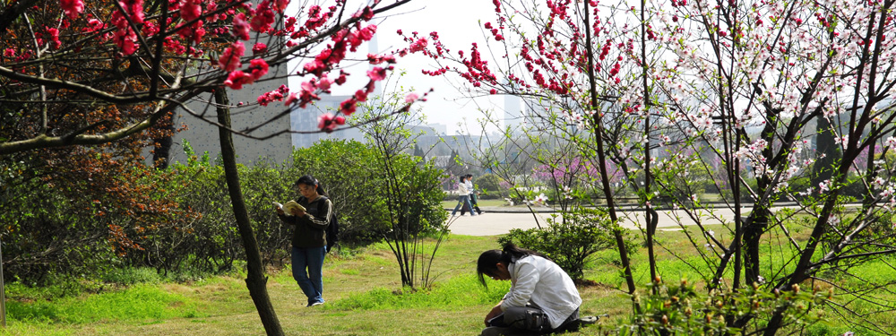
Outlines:
[{"label": "white jacket worn by the woman sitting on the grass", "polygon": [[502,310],[531,302],[547,314],[551,327],[556,328],[582,305],[573,280],[554,262],[530,255],[511,263],[507,271],[512,285],[504,295]]}]

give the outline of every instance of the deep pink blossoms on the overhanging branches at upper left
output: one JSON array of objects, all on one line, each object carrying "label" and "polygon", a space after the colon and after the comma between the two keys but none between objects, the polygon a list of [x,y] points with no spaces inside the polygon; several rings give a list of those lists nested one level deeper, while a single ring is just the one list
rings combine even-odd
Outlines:
[{"label": "deep pink blossoms on the overhanging branches at upper left", "polygon": [[[208,31],[212,36],[220,36],[230,34],[237,40],[230,43],[217,59],[217,66],[220,71],[226,73],[226,80],[223,84],[233,90],[240,90],[244,85],[252,84],[260,80],[269,71],[268,63],[261,58],[267,54],[268,46],[264,43],[255,43],[252,46],[253,58],[248,61],[248,66],[243,62],[246,56],[246,40],[251,39],[251,31],[258,33],[268,33],[270,35],[284,36],[287,38],[287,47],[297,46],[294,39],[306,38],[314,31],[318,31],[327,27],[327,23],[334,17],[335,13],[340,10],[340,5],[344,2],[338,1],[337,4],[330,7],[321,7],[320,5],[311,5],[308,7],[305,22],[298,22],[297,17],[284,17],[283,27],[278,29],[274,27],[277,22],[278,14],[282,14],[289,5],[289,0],[261,0],[260,3],[252,4],[249,2],[239,3],[221,11],[218,6],[223,3],[209,2],[206,0],[168,0],[168,9],[179,15],[169,17],[168,22],[160,22],[153,17],[149,22],[144,19],[143,1],[144,0],[115,0],[120,5],[120,10],[111,13],[108,21],[105,19],[93,18],[87,14],[87,24],[83,28],[83,32],[96,33],[112,27],[110,33],[105,34],[102,39],[110,39],[115,43],[121,51],[121,55],[132,55],[140,48],[140,37],[142,34],[151,37],[159,33],[161,29],[168,25],[177,24],[177,26],[168,31],[177,35],[167,36],[162,40],[164,50],[177,55],[190,53],[193,56],[201,56],[202,49],[195,47],[202,42],[203,37],[207,34],[204,26],[209,22],[217,22],[229,20],[230,24],[216,25],[215,28]],[[375,1],[377,3],[378,1]],[[497,5],[498,3],[495,2]],[[60,0],[60,6],[69,19],[76,19],[85,10],[83,0]],[[355,24],[345,27],[342,30],[332,34],[332,43],[327,45],[323,51],[314,56],[314,59],[307,62],[303,66],[303,71],[299,75],[311,74],[313,78],[303,82],[301,89],[296,92],[290,92],[286,86],[281,86],[277,90],[271,90],[257,98],[259,105],[268,106],[274,101],[285,100],[288,106],[297,104],[300,108],[315,99],[320,99],[317,95],[319,92],[330,92],[333,84],[341,85],[346,82],[348,73],[340,71],[340,75],[335,79],[327,77],[327,73],[336,68],[342,60],[345,59],[348,52],[357,51],[358,47],[364,42],[373,39],[376,33],[375,24],[362,24],[368,22],[375,16],[373,8],[367,6],[362,10],[354,13],[352,18],[357,20]],[[67,21],[66,21],[67,22]],[[108,24],[107,24],[108,23]],[[67,28],[65,23],[64,28]],[[139,29],[139,30],[138,30]],[[49,43],[53,48],[62,46],[59,40],[59,30],[56,28],[45,28],[39,34],[40,38]],[[437,39],[435,33],[431,34]],[[361,90],[357,90],[355,94],[340,104],[338,116],[324,115],[320,118],[320,128],[325,131],[332,131],[338,125],[344,125],[345,117],[350,116],[357,110],[360,102],[366,101],[367,96],[375,90],[376,82],[383,81],[391,71],[392,64],[396,63],[396,55],[404,56],[409,53],[423,52],[427,53],[426,48],[429,40],[423,37],[416,37],[410,41],[409,47],[402,49],[391,55],[369,55],[368,62],[375,66],[366,73],[369,81]],[[439,52],[442,51],[441,46],[436,47]],[[30,56],[30,54],[27,54]],[[428,54],[427,54],[428,55]],[[13,48],[4,50],[4,57],[14,57],[16,51]],[[248,57],[247,57],[248,58]],[[388,66],[384,65],[388,64]],[[417,101],[417,95],[408,97],[408,104]]]}]

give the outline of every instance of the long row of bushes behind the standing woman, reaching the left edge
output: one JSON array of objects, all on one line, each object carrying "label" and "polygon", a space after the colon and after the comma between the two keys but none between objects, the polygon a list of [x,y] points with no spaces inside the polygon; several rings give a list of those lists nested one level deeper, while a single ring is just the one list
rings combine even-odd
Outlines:
[{"label": "long row of bushes behind the standing woman, reaching the left edge", "polygon": [[[187,278],[233,270],[245,255],[223,168],[207,154],[196,155],[189,143],[184,147],[192,159],[166,170],[129,163],[134,172],[130,176],[139,177],[129,182],[151,190],[141,192],[147,197],[174,204],[165,209],[140,202],[133,210],[110,210],[108,204],[120,200],[101,192],[95,199],[86,196],[90,188],[97,188],[90,180],[48,184],[29,162],[3,158],[0,172],[8,173],[3,181],[10,183],[4,183],[0,198],[5,280],[32,286],[73,278],[114,280],[116,270],[125,267],[150,267],[163,276]],[[289,261],[292,228],[277,218],[271,202],[297,198],[291,185],[306,174],[320,180],[330,194],[340,220],[342,246],[380,241],[391,227],[381,188],[386,177],[377,166],[382,161],[378,155],[361,142],[323,141],[297,149],[291,162],[239,166],[263,261],[274,265]],[[416,189],[410,190],[414,195],[410,209],[419,219],[414,229],[439,228],[444,223],[440,206],[444,195],[441,188],[424,186],[437,185],[442,172],[409,155],[401,154],[394,162],[402,174],[396,178],[415,181]],[[24,171],[33,175],[16,174]],[[121,237],[132,245],[123,244]]]}]

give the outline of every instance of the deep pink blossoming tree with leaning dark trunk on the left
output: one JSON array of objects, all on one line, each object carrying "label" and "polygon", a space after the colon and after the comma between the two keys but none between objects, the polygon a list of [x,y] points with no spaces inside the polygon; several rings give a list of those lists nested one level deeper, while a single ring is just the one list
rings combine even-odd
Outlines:
[{"label": "deep pink blossoming tree with leaning dark trunk on the left", "polygon": [[[346,83],[349,73],[341,65],[373,39],[375,17],[409,0],[375,0],[358,8],[341,0],[302,2],[295,15],[286,13],[289,3],[19,0],[0,7],[0,155],[124,142],[170,125],[175,110],[219,126],[228,189],[246,247],[246,286],[269,335],[283,331],[267,296],[231,139],[231,134],[257,136],[229,125],[230,108],[239,104],[231,106],[226,90],[297,76],[300,88],[280,87],[251,104],[275,104],[283,110],[280,116],[292,106],[305,107]],[[395,54],[425,45],[420,39]],[[274,78],[271,68],[290,61],[299,68]],[[344,124],[392,70],[396,56],[368,55],[366,61],[375,65],[366,73],[366,85],[335,115],[320,116],[321,131]],[[202,105],[216,113],[194,111],[188,107],[194,101],[213,102]],[[270,122],[258,120],[248,130]]]}]

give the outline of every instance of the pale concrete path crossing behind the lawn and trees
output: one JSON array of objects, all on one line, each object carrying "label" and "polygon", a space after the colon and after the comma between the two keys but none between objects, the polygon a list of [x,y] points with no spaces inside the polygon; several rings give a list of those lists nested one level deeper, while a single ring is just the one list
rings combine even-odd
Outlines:
[{"label": "pale concrete path crossing behind the lawn and trees", "polygon": [[[538,224],[547,225],[547,218],[554,215],[550,208],[535,208],[539,211],[535,215],[525,208],[509,207],[482,207],[485,211],[482,215],[470,217],[456,216],[449,218],[452,233],[467,236],[494,236],[510,232],[511,228],[537,228]],[[748,211],[744,209],[742,211]],[[659,213],[659,229],[678,228],[678,220],[675,216],[681,216],[681,222],[685,225],[694,225],[695,220],[686,218],[684,211],[657,211]],[[460,212],[458,212],[460,214]],[[638,228],[644,223],[644,211],[620,211],[618,212],[625,228]],[[734,211],[731,209],[716,209],[714,213],[702,211],[699,220],[702,224],[721,224],[731,222],[734,219]]]}]

